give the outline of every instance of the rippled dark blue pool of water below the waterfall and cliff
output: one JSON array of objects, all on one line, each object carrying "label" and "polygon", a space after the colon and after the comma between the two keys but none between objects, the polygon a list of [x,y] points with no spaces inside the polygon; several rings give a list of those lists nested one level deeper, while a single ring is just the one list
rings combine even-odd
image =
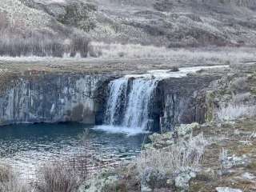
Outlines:
[{"label": "rippled dark blue pool of water below the waterfall and cliff", "polygon": [[80,155],[90,157],[88,167],[93,170],[102,163],[134,158],[144,138],[145,134],[109,132],[79,123],[3,126],[0,161],[14,166],[24,178],[33,178],[45,162]]}]

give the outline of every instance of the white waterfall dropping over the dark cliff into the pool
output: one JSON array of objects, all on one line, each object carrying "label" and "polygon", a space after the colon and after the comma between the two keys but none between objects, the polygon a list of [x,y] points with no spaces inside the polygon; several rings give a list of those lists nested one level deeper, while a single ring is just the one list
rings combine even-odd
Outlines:
[{"label": "white waterfall dropping over the dark cliff into the pool", "polygon": [[158,85],[151,78],[119,78],[110,82],[105,124],[147,130],[150,127],[150,102]]}]

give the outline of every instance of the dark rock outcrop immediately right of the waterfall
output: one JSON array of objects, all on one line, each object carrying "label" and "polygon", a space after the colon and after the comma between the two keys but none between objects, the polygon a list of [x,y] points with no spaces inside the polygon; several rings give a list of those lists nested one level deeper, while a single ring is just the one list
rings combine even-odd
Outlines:
[{"label": "dark rock outcrop immediately right of the waterfall", "polygon": [[198,101],[202,90],[210,85],[213,76],[188,76],[186,78],[168,78],[159,84],[162,95],[162,109],[159,113],[159,125],[162,132],[173,130],[177,124],[205,122],[205,102]]}]

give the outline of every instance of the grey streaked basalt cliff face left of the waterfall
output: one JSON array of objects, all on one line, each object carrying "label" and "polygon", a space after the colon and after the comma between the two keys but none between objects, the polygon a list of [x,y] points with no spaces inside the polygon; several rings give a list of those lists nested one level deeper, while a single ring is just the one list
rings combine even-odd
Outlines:
[{"label": "grey streaked basalt cliff face left of the waterfall", "polygon": [[2,94],[0,122],[84,122],[95,124],[102,113],[109,78],[83,74],[44,74],[19,78]]}]

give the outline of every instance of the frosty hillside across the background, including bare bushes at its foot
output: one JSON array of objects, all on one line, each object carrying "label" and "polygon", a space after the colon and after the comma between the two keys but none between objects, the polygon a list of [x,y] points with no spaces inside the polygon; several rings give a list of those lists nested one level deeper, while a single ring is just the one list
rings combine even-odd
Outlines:
[{"label": "frosty hillside across the background, including bare bushes at its foot", "polygon": [[2,0],[1,55],[86,57],[88,43],[255,46],[254,0]]}]

